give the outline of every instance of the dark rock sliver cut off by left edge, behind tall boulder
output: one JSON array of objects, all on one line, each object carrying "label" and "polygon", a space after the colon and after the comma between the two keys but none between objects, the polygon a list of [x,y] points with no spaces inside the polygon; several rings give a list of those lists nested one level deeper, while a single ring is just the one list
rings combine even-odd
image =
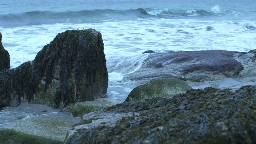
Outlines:
[{"label": "dark rock sliver cut off by left edge, behind tall boulder", "polygon": [[10,55],[2,45],[2,34],[0,32],[0,72],[10,68]]}]

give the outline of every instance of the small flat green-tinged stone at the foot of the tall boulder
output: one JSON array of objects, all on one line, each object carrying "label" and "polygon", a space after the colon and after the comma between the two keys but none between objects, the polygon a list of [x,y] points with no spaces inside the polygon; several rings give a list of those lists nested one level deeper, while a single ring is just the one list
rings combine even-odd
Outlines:
[{"label": "small flat green-tinged stone at the foot of the tall boulder", "polygon": [[72,106],[72,115],[73,116],[83,116],[86,113],[103,110],[109,106],[113,106],[115,104],[120,104],[122,102],[118,100],[112,100],[107,98],[98,98],[94,101],[86,101],[86,102],[77,102]]}]

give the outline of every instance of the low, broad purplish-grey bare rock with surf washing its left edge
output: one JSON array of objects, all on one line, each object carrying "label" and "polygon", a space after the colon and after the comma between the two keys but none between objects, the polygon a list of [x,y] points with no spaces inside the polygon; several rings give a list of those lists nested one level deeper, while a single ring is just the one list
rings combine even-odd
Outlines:
[{"label": "low, broad purplish-grey bare rock with surf washing its left edge", "polygon": [[239,52],[225,50],[167,52],[150,54],[141,68],[124,76],[124,80],[141,83],[156,78],[182,78],[186,80],[220,80],[239,77],[243,65]]}]

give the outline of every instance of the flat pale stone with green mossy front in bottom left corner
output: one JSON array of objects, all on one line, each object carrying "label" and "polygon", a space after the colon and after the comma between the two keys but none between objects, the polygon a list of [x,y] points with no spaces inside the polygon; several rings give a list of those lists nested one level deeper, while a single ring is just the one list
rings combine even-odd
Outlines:
[{"label": "flat pale stone with green mossy front in bottom left corner", "polygon": [[33,117],[0,130],[2,144],[61,144],[72,124],[51,117]]}]

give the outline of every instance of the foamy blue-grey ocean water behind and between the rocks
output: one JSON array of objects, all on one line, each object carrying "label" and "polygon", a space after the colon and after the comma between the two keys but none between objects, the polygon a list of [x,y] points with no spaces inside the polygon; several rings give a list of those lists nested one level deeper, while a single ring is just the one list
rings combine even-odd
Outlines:
[{"label": "foamy blue-grey ocean water behind and between the rocks", "polygon": [[[124,101],[136,85],[122,78],[140,68],[146,50],[255,49],[255,7],[254,0],[6,0],[0,32],[15,68],[58,33],[94,28],[104,41],[108,96]],[[13,121],[3,117],[0,128]]]}]

